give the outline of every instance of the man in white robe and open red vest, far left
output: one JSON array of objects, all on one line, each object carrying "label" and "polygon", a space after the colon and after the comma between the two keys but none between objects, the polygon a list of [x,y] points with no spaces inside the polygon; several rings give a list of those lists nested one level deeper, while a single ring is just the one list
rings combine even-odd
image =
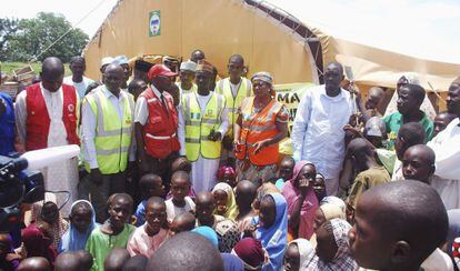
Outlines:
[{"label": "man in white robe and open red vest, far left", "polygon": [[[79,97],[72,86],[62,84],[63,74],[61,60],[47,58],[40,74],[42,82],[28,87],[17,97],[16,126],[19,140],[24,144],[26,151],[79,143],[77,136]],[[69,201],[61,210],[61,214],[68,217],[70,205],[77,200],[79,181],[77,158],[53,163],[43,168],[41,172],[47,191],[70,193]],[[57,198],[60,207],[66,202],[67,194],[59,193]]]}]

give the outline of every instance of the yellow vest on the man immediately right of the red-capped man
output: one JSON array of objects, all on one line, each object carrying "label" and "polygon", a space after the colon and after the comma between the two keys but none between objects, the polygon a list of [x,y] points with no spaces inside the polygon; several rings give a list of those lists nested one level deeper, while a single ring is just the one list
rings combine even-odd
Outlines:
[{"label": "yellow vest on the man immediately right of the red-capped man", "polygon": [[[182,97],[183,119],[186,122],[186,154],[191,162],[197,161],[199,154],[207,159],[220,158],[220,141],[208,139],[213,130],[218,132],[221,123],[221,113],[226,108],[226,98],[211,92],[204,114],[198,103],[197,92]],[[222,134],[223,136],[223,134]]]}]

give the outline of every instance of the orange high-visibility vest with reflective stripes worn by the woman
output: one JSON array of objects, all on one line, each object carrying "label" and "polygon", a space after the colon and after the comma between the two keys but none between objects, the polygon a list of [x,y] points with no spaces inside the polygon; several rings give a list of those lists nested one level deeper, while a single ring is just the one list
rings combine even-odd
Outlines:
[{"label": "orange high-visibility vest with reflective stripes worn by the woman", "polygon": [[276,126],[277,114],[282,104],[271,100],[262,111],[252,113],[254,97],[249,97],[241,103],[242,128],[240,143],[241,151],[236,152],[238,159],[249,158],[252,164],[269,165],[278,162],[278,143],[262,148],[257,154],[254,144],[261,140],[273,138],[279,130]]}]

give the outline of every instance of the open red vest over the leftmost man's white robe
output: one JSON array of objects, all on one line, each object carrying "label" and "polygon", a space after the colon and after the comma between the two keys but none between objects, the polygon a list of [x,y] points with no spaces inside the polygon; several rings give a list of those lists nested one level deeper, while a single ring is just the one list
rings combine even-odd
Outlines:
[{"label": "open red vest over the leftmost man's white robe", "polygon": [[[50,116],[41,93],[40,83],[26,89],[27,121],[26,150],[46,149],[50,131]],[[69,144],[80,144],[77,136],[77,91],[72,86],[62,84],[62,121]]]}]

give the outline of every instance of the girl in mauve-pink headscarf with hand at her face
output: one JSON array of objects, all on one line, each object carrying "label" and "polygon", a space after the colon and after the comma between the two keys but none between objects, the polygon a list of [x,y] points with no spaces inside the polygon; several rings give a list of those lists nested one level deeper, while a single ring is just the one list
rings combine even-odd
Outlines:
[{"label": "girl in mauve-pink headscarf with hand at her face", "polygon": [[284,183],[282,195],[288,202],[289,234],[292,239],[310,239],[313,234],[314,212],[318,199],[313,183],[317,178],[314,164],[307,161],[296,163],[292,179]]}]

